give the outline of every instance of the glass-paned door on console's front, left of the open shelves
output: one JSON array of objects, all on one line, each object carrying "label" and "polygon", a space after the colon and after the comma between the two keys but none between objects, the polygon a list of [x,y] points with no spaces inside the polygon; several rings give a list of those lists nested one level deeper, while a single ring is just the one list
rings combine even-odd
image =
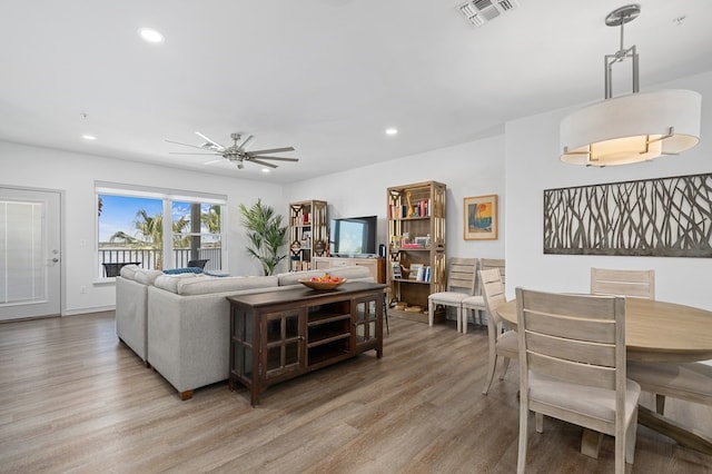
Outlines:
[{"label": "glass-paned door on console's front, left of the open shelves", "polygon": [[299,310],[269,314],[266,317],[265,377],[299,368]]}]

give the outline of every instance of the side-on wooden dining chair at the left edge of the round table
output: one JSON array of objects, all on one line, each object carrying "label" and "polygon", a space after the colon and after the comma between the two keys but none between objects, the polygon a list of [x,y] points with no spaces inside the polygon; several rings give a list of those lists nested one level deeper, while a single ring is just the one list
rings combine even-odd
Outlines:
[{"label": "side-on wooden dining chair at the left edge of the round table", "polygon": [[477,279],[479,280],[487,312],[490,363],[487,365],[485,386],[482,389],[482,393],[486,395],[494,379],[498,358],[502,357],[502,369],[500,372],[500,379],[502,381],[510,366],[510,359],[516,359],[518,357],[518,342],[516,332],[504,330],[502,318],[497,315],[497,307],[507,302],[504,296],[504,285],[502,284],[500,269],[490,268],[488,270],[478,270]]}]

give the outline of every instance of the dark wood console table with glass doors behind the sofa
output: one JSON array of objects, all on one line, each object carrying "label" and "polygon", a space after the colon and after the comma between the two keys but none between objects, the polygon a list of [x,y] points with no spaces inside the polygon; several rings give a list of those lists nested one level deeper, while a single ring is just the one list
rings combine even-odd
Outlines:
[{"label": "dark wood console table with glass doors behind the sofa", "polygon": [[345,283],[230,296],[230,389],[250,391],[253,406],[268,386],[375,349],[383,356],[386,285]]}]

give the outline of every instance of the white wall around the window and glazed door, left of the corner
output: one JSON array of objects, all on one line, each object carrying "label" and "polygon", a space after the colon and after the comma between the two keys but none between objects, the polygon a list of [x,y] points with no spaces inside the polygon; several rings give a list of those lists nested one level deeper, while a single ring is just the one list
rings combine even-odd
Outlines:
[{"label": "white wall around the window and glazed door, left of the corner", "polygon": [[[95,180],[170,187],[228,196],[229,234],[225,269],[234,275],[259,275],[258,263],[245,254],[246,241],[239,204],[251,206],[257,198],[276,209],[285,207],[281,187],[180,169],[141,165],[98,156],[27,147],[0,141],[0,185],[63,191],[62,203],[62,314],[112,308],[113,284],[98,284],[96,268]],[[82,247],[80,240],[91,243]],[[87,293],[81,294],[81,287]]]}]

